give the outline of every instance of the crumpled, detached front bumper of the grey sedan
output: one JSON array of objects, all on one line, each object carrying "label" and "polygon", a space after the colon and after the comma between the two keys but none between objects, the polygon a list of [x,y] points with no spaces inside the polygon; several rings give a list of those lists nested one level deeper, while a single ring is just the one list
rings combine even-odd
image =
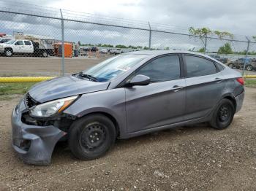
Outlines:
[{"label": "crumpled, detached front bumper of the grey sedan", "polygon": [[21,120],[23,99],[12,112],[12,147],[26,163],[49,165],[53,149],[66,133],[53,125],[27,125]]}]

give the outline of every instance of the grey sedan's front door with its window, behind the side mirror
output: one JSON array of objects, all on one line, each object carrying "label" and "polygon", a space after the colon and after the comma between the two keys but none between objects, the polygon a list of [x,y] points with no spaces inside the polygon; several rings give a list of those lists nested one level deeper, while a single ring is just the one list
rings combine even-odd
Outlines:
[{"label": "grey sedan's front door with its window, behind the side mirror", "polygon": [[183,120],[185,80],[179,55],[165,55],[142,66],[136,74],[151,78],[146,86],[125,87],[127,131],[134,133]]}]

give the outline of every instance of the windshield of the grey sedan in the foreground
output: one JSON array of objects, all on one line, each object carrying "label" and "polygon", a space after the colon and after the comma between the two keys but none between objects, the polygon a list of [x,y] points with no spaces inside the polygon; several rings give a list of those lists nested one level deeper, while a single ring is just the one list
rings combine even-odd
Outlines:
[{"label": "windshield of the grey sedan in the foreground", "polygon": [[110,79],[124,74],[124,72],[142,61],[146,56],[147,55],[118,55],[97,64],[91,69],[83,71],[83,74],[97,78],[97,82],[108,82]]}]

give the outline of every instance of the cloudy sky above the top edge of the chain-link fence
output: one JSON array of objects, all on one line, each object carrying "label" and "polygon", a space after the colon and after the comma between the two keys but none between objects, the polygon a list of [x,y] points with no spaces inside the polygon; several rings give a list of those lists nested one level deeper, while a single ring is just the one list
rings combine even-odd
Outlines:
[{"label": "cloudy sky above the top edge of the chain-link fence", "polygon": [[233,34],[256,34],[255,0],[47,0],[43,5],[181,28],[206,26]]}]

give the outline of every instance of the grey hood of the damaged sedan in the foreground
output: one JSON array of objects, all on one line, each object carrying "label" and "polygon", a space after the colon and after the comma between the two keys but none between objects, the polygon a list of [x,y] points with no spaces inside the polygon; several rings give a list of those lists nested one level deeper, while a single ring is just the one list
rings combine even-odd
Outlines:
[{"label": "grey hood of the damaged sedan in the foreground", "polygon": [[29,95],[34,100],[43,103],[72,95],[107,90],[109,84],[110,82],[92,82],[73,76],[57,77],[34,85],[29,90]]}]

